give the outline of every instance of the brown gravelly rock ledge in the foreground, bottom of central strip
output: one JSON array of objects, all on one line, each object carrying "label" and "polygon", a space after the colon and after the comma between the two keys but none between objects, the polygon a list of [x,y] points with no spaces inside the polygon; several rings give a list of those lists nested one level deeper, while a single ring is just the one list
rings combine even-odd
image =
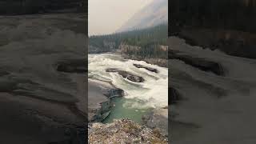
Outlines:
[{"label": "brown gravelly rock ledge in the foreground, bottom of central strip", "polygon": [[168,140],[158,130],[129,119],[115,120],[112,123],[93,123],[89,126],[88,142],[96,143],[158,143],[167,144]]}]

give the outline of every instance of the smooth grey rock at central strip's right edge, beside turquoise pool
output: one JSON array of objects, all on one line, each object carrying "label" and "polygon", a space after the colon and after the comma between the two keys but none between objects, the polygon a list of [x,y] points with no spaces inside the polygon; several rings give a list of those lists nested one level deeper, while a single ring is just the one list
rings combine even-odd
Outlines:
[{"label": "smooth grey rock at central strip's right edge, beside turquoise pool", "polygon": [[142,117],[144,125],[158,129],[161,134],[168,136],[168,109],[157,109]]}]

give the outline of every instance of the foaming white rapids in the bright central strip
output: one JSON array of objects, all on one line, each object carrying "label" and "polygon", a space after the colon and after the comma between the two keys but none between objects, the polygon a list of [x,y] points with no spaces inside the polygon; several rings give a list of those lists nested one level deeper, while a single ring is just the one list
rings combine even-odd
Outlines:
[{"label": "foaming white rapids in the bright central strip", "polygon": [[[158,70],[158,73],[134,66],[139,64]],[[141,76],[145,82],[131,82],[117,73],[108,73],[106,69],[116,68]],[[124,90],[126,101],[123,106],[137,109],[158,108],[168,106],[168,69],[151,65],[143,61],[123,59],[119,54],[89,54],[88,76]]]}]

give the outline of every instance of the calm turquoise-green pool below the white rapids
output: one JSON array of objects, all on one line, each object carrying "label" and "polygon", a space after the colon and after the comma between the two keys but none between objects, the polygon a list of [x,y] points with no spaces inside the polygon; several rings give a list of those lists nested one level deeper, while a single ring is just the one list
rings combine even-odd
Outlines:
[{"label": "calm turquoise-green pool below the white rapids", "polygon": [[[103,123],[113,122],[114,119],[129,118],[134,122],[141,123],[142,116],[150,112],[150,108],[134,108],[133,104],[140,104],[139,100],[127,98],[114,98],[114,107],[110,115],[103,121]],[[135,106],[136,107],[136,106]]]}]

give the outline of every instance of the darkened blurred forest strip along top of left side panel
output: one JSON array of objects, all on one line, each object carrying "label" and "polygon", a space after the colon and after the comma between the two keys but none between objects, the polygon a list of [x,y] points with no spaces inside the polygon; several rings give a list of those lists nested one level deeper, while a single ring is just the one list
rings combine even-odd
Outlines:
[{"label": "darkened blurred forest strip along top of left side panel", "polygon": [[83,0],[0,0],[0,14],[37,14],[54,10],[73,9],[85,12]]}]

